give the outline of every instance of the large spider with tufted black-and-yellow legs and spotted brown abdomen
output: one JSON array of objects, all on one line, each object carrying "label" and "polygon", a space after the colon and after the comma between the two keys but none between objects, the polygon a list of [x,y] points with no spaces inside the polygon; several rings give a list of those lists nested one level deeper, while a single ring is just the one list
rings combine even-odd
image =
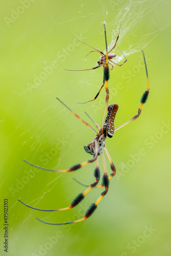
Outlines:
[{"label": "large spider with tufted black-and-yellow legs and spotted brown abdomen", "polygon": [[[143,51],[142,51],[143,53]],[[60,172],[60,173],[67,173],[67,172],[73,172],[76,169],[79,169],[81,167],[83,167],[84,165],[87,165],[89,163],[95,162],[95,172],[94,172],[94,176],[96,181],[93,182],[83,193],[80,193],[72,202],[71,204],[66,207],[66,208],[59,208],[59,209],[39,209],[39,208],[35,208],[32,206],[29,206],[27,204],[25,204],[24,202],[20,201],[18,199],[19,202],[21,202],[22,204],[26,205],[29,208],[35,209],[35,210],[41,210],[41,211],[61,211],[61,210],[69,210],[73,207],[75,207],[79,202],[81,202],[83,200],[83,198],[89,193],[89,191],[93,188],[93,187],[104,187],[104,191],[101,193],[100,197],[96,200],[95,203],[91,204],[91,206],[89,207],[89,209],[87,210],[86,214],[84,215],[83,218],[79,219],[79,220],[75,220],[75,221],[71,221],[71,222],[65,222],[65,223],[51,223],[51,222],[46,222],[46,221],[42,221],[40,219],[37,219],[38,221],[45,223],[45,224],[50,224],[50,225],[63,225],[63,224],[71,224],[71,223],[76,223],[76,222],[81,222],[86,220],[88,217],[90,217],[93,212],[95,211],[95,209],[97,208],[97,205],[99,204],[99,202],[101,201],[101,199],[106,195],[106,193],[108,193],[108,189],[109,189],[109,181],[111,180],[111,178],[113,176],[115,176],[116,174],[116,168],[115,165],[112,161],[112,158],[108,152],[108,149],[105,146],[105,140],[107,137],[112,138],[114,135],[114,132],[116,132],[117,130],[121,129],[123,126],[125,126],[126,124],[130,123],[131,121],[137,119],[140,114],[141,114],[141,110],[143,107],[143,104],[146,102],[147,100],[147,96],[149,93],[149,81],[148,81],[148,74],[147,74],[147,68],[146,68],[146,62],[145,62],[145,56],[143,53],[143,58],[144,58],[144,63],[145,63],[145,69],[146,69],[146,77],[147,77],[147,89],[146,91],[143,93],[142,97],[141,97],[141,105],[140,108],[138,109],[138,114],[135,115],[133,118],[131,118],[130,120],[126,121],[125,123],[123,123],[122,125],[118,126],[116,129],[114,127],[114,120],[115,120],[115,116],[118,110],[118,105],[117,104],[112,104],[108,106],[108,114],[105,118],[104,121],[104,125],[103,128],[101,129],[99,127],[99,125],[91,118],[91,120],[94,122],[94,124],[96,125],[97,129],[98,129],[98,133],[93,129],[93,127],[90,126],[90,124],[88,124],[87,122],[85,122],[84,120],[82,120],[76,113],[74,113],[70,108],[68,108],[68,106],[63,103],[60,99],[57,98],[57,100],[59,100],[64,106],[66,106],[66,108],[71,111],[74,116],[76,118],[78,118],[82,123],[86,124],[95,134],[96,137],[93,139],[92,142],[90,142],[87,146],[84,146],[84,150],[89,153],[90,155],[93,155],[92,159],[87,160],[86,162],[82,162],[79,164],[76,164],[72,167],[70,167],[69,169],[63,169],[63,170],[54,170],[54,169],[47,169],[44,167],[39,167],[37,165],[34,165],[32,163],[29,163],[28,161],[24,160],[26,163],[30,164],[31,166],[34,166],[36,168],[40,168],[43,170],[49,170],[51,172]],[[107,171],[106,171],[106,164],[105,164],[105,159],[104,159],[104,154],[103,154],[103,148],[104,151],[106,153],[106,156],[109,159],[110,165],[111,165],[111,169],[112,169],[112,174],[108,177]],[[99,164],[98,164],[98,156],[101,156],[102,159],[102,165],[103,165],[103,179],[102,179],[102,184],[100,186],[97,186],[99,180],[100,180],[100,172],[99,172]]]}]

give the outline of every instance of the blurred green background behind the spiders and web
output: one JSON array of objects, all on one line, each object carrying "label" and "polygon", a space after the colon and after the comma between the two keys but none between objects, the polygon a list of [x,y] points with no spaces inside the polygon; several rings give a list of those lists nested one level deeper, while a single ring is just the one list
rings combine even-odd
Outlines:
[{"label": "blurred green background behind the spiders and web", "polygon": [[[8,255],[170,255],[170,2],[167,1],[39,1],[1,4],[1,255],[4,255],[4,199],[9,206]],[[105,90],[98,53],[77,40],[105,51],[114,45],[127,57],[115,66],[109,81],[109,103],[119,110],[115,126],[132,118],[146,90],[144,50],[150,93],[139,119],[106,141],[117,168],[109,193],[88,220],[66,226],[49,222],[83,217],[101,189],[93,189],[74,209],[40,212],[38,208],[67,207],[94,181],[95,165],[56,174],[37,170],[23,159],[46,168],[65,169],[86,161],[83,150],[94,138],[86,125],[56,100],[59,97],[84,120],[87,111],[99,124]],[[116,49],[116,62],[123,61]],[[93,124],[92,124],[93,125]],[[140,153],[143,155],[140,156]],[[110,164],[106,159],[109,174]],[[100,169],[102,166],[100,161]]]}]

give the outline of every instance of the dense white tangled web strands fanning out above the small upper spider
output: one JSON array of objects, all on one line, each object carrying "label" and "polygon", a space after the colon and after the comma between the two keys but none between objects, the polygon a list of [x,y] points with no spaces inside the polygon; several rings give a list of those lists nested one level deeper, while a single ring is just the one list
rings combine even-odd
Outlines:
[{"label": "dense white tangled web strands fanning out above the small upper spider", "polygon": [[[118,35],[118,29],[121,24],[118,47],[122,50],[125,56],[139,52],[151,43],[151,41],[160,34],[169,24],[161,20],[159,23],[156,9],[161,5],[163,9],[163,1],[110,1],[110,5],[114,12],[114,20],[108,29],[109,40],[108,49],[111,49],[115,44]],[[104,7],[105,8],[105,7]],[[106,10],[108,13],[108,10]],[[109,27],[109,26],[108,26]],[[113,28],[113,30],[112,30]],[[144,30],[144,28],[146,28]],[[122,61],[124,56],[117,54],[115,61]]]}]

